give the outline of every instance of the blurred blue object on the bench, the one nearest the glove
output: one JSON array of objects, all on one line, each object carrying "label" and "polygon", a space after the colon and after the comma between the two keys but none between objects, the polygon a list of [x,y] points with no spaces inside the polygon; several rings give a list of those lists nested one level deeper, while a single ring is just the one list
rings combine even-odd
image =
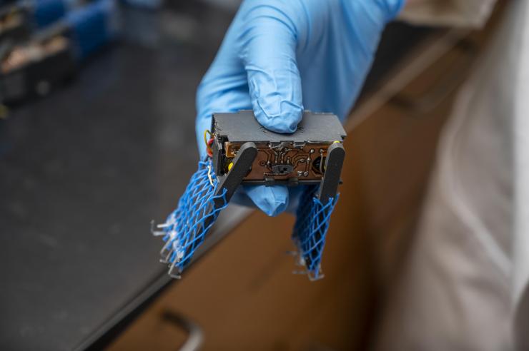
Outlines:
[{"label": "blurred blue object on the bench, the one nearest the glove", "polygon": [[66,15],[77,59],[85,59],[116,38],[117,6],[113,0],[99,0]]}]

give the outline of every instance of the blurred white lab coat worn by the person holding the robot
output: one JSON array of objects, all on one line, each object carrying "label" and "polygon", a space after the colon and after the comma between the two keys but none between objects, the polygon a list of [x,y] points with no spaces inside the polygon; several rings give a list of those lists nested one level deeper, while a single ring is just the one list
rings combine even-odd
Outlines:
[{"label": "blurred white lab coat worn by the person holding the robot", "polygon": [[[480,26],[494,2],[425,0],[402,18]],[[501,22],[443,131],[379,350],[529,350],[529,0]]]}]

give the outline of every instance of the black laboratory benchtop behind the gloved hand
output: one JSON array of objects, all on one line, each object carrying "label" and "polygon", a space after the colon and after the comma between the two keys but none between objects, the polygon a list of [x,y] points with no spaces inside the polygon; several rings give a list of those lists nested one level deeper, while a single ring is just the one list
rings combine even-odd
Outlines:
[{"label": "black laboratory benchtop behind the gloved hand", "polygon": [[[127,10],[118,45],[0,120],[0,350],[100,350],[172,282],[149,222],[196,168],[195,90],[232,17],[179,6]],[[366,89],[427,31],[390,26]]]}]

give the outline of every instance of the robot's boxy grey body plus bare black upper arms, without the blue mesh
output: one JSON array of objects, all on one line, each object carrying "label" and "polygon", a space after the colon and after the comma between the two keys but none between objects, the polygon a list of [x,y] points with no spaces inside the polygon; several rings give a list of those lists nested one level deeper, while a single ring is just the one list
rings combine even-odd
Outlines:
[{"label": "robot's boxy grey body plus bare black upper arms, without the blue mesh", "polygon": [[252,111],[214,113],[210,135],[217,191],[226,188],[228,198],[241,184],[320,185],[322,203],[336,196],[346,133],[331,113],[305,111],[292,134],[268,131]]}]

